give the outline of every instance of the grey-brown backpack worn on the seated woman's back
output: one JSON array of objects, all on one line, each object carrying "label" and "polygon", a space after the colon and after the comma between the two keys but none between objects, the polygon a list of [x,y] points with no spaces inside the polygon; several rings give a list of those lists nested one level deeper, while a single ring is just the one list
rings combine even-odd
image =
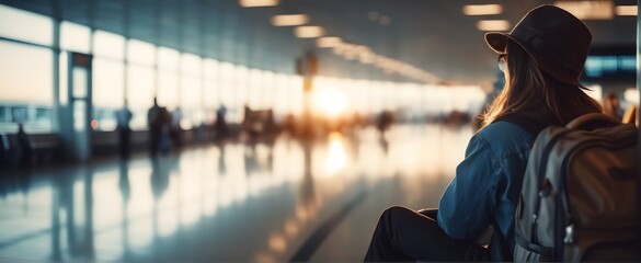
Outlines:
[{"label": "grey-brown backpack worn on the seated woman's back", "polygon": [[604,114],[539,133],[516,209],[514,261],[638,259],[638,129]]}]

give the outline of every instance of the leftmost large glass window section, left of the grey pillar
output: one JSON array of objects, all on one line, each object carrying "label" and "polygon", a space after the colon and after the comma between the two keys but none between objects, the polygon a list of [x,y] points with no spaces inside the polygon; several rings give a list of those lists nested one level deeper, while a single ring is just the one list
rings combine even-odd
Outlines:
[{"label": "leftmost large glass window section, left of the grey pillar", "polygon": [[[15,26],[16,24],[21,26]],[[51,132],[54,101],[53,20],[0,4],[0,134]],[[41,46],[42,45],[42,46]]]}]

